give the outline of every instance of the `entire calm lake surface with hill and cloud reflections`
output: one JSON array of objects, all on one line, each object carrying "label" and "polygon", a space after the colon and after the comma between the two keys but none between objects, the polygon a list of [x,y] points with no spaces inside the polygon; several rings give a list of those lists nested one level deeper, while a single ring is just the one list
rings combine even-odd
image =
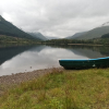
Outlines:
[{"label": "entire calm lake surface with hill and cloud reflections", "polygon": [[108,47],[31,46],[0,48],[0,76],[60,66],[58,59],[89,59],[108,56]]}]

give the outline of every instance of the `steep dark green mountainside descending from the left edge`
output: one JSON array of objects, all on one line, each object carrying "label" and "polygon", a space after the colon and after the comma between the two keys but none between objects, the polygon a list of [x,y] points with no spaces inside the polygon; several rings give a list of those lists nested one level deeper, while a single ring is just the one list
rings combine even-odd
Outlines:
[{"label": "steep dark green mountainside descending from the left edge", "polygon": [[[0,35],[13,36],[17,38],[33,39],[34,37],[14,26],[12,23],[5,21],[0,15]],[[39,40],[39,39],[37,39]]]}]

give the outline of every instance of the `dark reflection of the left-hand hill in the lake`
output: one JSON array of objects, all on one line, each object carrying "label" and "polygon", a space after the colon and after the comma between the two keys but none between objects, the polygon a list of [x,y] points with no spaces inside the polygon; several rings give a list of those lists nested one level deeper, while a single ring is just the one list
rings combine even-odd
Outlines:
[{"label": "dark reflection of the left-hand hill in the lake", "polygon": [[41,46],[20,46],[20,47],[0,48],[0,64],[2,64],[4,61],[28,49],[31,50],[37,49],[37,51],[39,52],[40,50],[43,50],[43,47]]}]

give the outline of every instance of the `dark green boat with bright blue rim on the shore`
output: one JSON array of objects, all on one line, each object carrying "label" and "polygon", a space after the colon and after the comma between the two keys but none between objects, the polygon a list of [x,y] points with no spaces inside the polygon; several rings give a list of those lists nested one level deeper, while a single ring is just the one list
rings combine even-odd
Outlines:
[{"label": "dark green boat with bright blue rim on the shore", "polygon": [[60,65],[64,69],[89,69],[89,68],[108,68],[109,57],[97,59],[60,59]]}]

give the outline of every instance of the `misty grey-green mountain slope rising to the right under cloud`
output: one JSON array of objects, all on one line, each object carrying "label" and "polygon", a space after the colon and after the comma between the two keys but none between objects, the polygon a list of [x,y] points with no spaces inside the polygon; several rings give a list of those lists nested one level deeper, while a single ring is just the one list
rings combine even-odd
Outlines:
[{"label": "misty grey-green mountain slope rising to the right under cloud", "polygon": [[101,26],[93,28],[85,33],[76,33],[75,35],[71,36],[73,39],[93,39],[93,38],[100,38],[102,35],[109,33],[109,22],[104,23]]}]

